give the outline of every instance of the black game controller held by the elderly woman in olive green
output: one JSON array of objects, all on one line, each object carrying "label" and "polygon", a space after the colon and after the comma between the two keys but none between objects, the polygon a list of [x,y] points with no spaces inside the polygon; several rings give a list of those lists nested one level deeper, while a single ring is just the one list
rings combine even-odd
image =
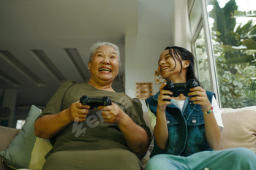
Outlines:
[{"label": "black game controller held by the elderly woman in olive green", "polygon": [[90,109],[94,109],[94,107],[111,105],[111,99],[109,97],[89,98],[88,96],[82,96],[80,98],[80,103],[83,105],[89,105]]}]

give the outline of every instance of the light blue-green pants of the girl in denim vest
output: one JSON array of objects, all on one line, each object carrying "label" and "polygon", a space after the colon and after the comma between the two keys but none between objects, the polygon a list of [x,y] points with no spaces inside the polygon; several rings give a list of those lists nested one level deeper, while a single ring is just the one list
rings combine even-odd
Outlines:
[{"label": "light blue-green pants of the girl in denim vest", "polygon": [[227,150],[197,152],[188,157],[159,154],[146,164],[146,170],[255,170],[256,154],[238,147]]}]

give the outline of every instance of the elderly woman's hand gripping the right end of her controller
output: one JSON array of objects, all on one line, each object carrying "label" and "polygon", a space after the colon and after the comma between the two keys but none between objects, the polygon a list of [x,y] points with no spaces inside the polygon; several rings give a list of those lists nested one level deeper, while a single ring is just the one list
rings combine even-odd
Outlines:
[{"label": "elderly woman's hand gripping the right end of her controller", "polygon": [[118,124],[125,114],[123,110],[114,103],[110,106],[100,106],[98,109],[102,110],[102,117],[107,123]]}]

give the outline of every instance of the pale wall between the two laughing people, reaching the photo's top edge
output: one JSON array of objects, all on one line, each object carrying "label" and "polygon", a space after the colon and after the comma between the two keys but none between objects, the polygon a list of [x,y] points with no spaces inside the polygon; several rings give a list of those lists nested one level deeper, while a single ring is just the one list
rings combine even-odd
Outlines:
[{"label": "pale wall between the two laughing people, reaching the photo's top edge", "polygon": [[[175,0],[179,1],[179,0]],[[125,34],[125,93],[134,98],[136,82],[152,82],[153,94],[159,90],[154,83],[159,55],[173,45],[170,23],[174,1],[138,0],[138,32]],[[143,110],[146,103],[141,100]]]}]

